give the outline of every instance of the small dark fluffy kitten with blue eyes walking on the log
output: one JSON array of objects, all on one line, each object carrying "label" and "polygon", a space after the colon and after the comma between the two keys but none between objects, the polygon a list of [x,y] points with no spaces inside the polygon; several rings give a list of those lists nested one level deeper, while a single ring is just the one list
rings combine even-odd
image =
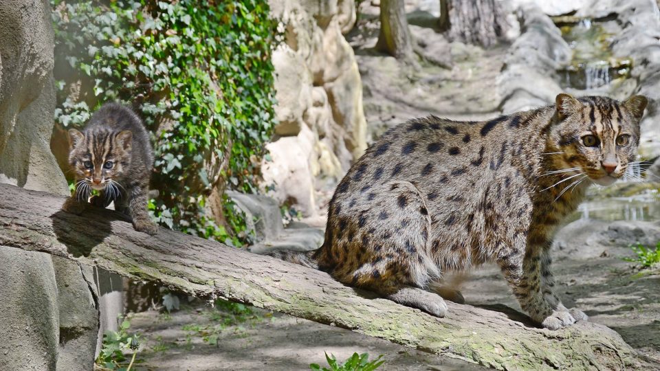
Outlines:
[{"label": "small dark fluffy kitten with blue eyes walking on the log", "polygon": [[98,190],[90,203],[107,207],[115,201],[115,209],[131,216],[136,231],[156,234],[157,226],[146,211],[153,150],[140,118],[119,104],[104,104],[82,133],[69,130],[69,144],[76,194],[62,209],[82,213],[90,191]]}]

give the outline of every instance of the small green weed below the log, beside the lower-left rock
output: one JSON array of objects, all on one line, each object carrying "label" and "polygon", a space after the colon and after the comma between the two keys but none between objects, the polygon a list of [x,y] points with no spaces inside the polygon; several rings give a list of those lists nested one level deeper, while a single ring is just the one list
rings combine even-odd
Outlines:
[{"label": "small green weed below the log, beside the lower-left rock", "polygon": [[[137,334],[129,336],[126,330],[131,327],[131,323],[122,319],[122,316],[118,317],[121,323],[117,331],[106,331],[103,334],[103,344],[96,357],[95,370],[129,371],[134,363],[144,362],[144,359],[135,359],[137,350],[140,348],[140,341]],[[133,353],[130,360],[124,354],[129,352]]]}]

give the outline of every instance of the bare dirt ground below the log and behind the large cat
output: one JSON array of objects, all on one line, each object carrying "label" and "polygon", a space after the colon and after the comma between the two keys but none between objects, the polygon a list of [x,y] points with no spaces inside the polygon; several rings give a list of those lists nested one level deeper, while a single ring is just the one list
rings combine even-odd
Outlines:
[{"label": "bare dirt ground below the log and behind the large cat", "polygon": [[[422,58],[419,63],[403,65],[373,50],[377,17],[369,2],[362,4],[358,27],[347,38],[362,74],[370,141],[388,126],[420,115],[473,120],[498,113],[501,99],[496,81],[507,45],[483,50],[447,43],[428,27],[425,14],[417,13],[410,23],[413,35],[426,41],[416,47]],[[439,50],[448,57],[428,58]],[[654,218],[660,220],[660,215]],[[660,230],[657,222],[642,227]],[[602,240],[607,231],[608,223],[593,220],[562,229],[560,248],[553,253],[558,294],[566,306],[577,306],[591,321],[617,330],[632,347],[660,361],[660,271],[632,268],[622,260],[632,255],[627,243]],[[499,303],[520,310],[495,267],[472,272],[463,282],[462,292],[467,304]],[[288,315],[255,309],[245,322],[234,323],[223,319],[222,313],[196,302],[168,317],[156,311],[131,315],[132,329],[145,339],[140,353],[145,363],[140,367],[305,370],[309,363],[325,365],[324,352],[341,360],[353,352],[369,352],[371,358],[384,355],[382,370],[482,369]]]}]

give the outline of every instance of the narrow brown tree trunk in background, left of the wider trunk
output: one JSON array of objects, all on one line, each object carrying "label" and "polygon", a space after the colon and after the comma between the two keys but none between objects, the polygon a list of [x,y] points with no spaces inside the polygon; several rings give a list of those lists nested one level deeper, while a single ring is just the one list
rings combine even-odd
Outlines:
[{"label": "narrow brown tree trunk in background, left of the wider trunk", "polygon": [[408,30],[404,0],[380,1],[380,35],[376,49],[397,59],[412,57],[412,37]]}]

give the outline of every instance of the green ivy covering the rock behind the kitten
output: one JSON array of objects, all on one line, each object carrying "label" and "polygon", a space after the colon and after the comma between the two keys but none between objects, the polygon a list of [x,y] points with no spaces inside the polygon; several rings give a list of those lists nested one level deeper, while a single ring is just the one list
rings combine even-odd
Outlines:
[{"label": "green ivy covering the rock behind the kitten", "polygon": [[[243,216],[223,191],[225,184],[254,191],[274,126],[270,57],[278,34],[267,2],[51,2],[58,126],[83,126],[103,102],[132,104],[155,143],[155,220],[248,242]],[[209,212],[214,189],[220,221]]]}]

